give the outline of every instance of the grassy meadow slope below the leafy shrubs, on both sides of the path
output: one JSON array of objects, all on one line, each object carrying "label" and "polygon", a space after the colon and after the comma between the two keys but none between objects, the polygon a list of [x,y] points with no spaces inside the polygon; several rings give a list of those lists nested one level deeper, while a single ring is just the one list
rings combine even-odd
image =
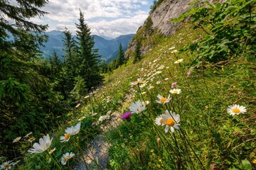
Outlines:
[{"label": "grassy meadow slope below the leafy shrubs, on both sides of the path", "polygon": [[[155,36],[150,41],[156,46],[141,62],[132,64],[132,60],[129,60],[126,66],[105,75],[105,86],[98,89],[97,94],[81,99],[81,105],[69,114],[69,124],[50,132],[50,136],[54,135],[55,138],[49,149],[56,147],[54,157],[58,162],[66,152],[76,154],[76,159],[71,159],[70,164],[77,162],[80,149],[75,145],[76,141],[80,146],[86,146],[100,127],[104,128],[109,121],[103,120],[92,126],[91,123],[97,122],[100,115],[106,115],[107,111],[122,115],[129,111],[132,101],[142,100],[138,87],[129,83],[143,77],[147,83],[142,93],[149,101],[146,111],[132,115],[130,122],[122,121],[117,128],[105,132],[112,143],[110,169],[203,169],[203,166],[210,169],[242,169],[247,161],[252,163],[256,159],[255,61],[238,57],[222,64],[205,65],[201,69],[191,64],[196,54],[171,53],[201,35],[200,30],[192,30],[186,25],[175,35],[166,38]],[[183,59],[183,62],[174,64],[177,58]],[[161,73],[156,74],[157,71]],[[191,71],[190,77],[187,77],[188,71]],[[174,81],[181,94],[169,93]],[[149,86],[154,86],[154,89],[149,89]],[[171,102],[168,105],[156,103],[158,94],[170,95]],[[108,97],[113,98],[112,101],[107,101]],[[247,112],[234,117],[229,115],[226,108],[233,103],[245,106]],[[164,133],[164,128],[154,123],[155,118],[166,109],[181,115],[181,130],[176,130],[175,136]],[[60,143],[59,137],[64,134],[65,128],[78,123],[81,116],[86,118],[81,121],[78,136]],[[157,138],[161,138],[161,142]],[[21,149],[26,153],[26,147]],[[53,162],[45,163],[49,159],[45,152],[26,157],[26,164],[20,169],[56,167]],[[244,159],[247,161],[242,163]],[[70,169],[70,166],[62,167]]]}]

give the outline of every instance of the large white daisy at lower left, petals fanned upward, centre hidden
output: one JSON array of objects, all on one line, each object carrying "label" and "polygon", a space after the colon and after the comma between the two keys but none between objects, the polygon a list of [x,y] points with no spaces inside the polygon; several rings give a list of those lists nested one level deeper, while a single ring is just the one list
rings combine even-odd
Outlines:
[{"label": "large white daisy at lower left, petals fanned upward, centre hidden", "polygon": [[50,140],[50,136],[49,134],[47,134],[46,136],[43,136],[43,138],[39,139],[39,143],[34,143],[33,144],[33,149],[29,149],[28,152],[33,153],[42,153],[44,151],[46,151],[46,149],[48,149],[50,147],[50,144],[52,142],[53,138],[51,138]]}]

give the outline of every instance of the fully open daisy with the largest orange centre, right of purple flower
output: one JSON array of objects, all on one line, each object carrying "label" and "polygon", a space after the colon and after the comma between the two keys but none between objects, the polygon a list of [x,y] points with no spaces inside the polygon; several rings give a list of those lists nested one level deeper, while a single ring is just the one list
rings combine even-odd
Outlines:
[{"label": "fully open daisy with the largest orange centre, right of purple flower", "polygon": [[163,118],[164,125],[166,125],[164,132],[168,132],[169,128],[171,129],[171,132],[174,132],[174,128],[179,130],[180,115],[166,110],[166,114],[161,115],[161,118]]}]

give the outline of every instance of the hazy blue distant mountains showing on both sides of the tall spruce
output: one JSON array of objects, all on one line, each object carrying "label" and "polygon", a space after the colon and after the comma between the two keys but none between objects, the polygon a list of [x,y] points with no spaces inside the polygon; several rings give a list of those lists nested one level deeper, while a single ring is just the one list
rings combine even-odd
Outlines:
[{"label": "hazy blue distant mountains showing on both sides of the tall spruce", "polygon": [[[57,52],[58,56],[63,56],[63,33],[59,30],[52,30],[46,32],[48,35],[48,42],[44,44],[44,47],[41,47],[44,57],[49,57],[53,52]],[[114,58],[117,58],[119,53],[119,44],[122,44],[123,50],[127,50],[127,46],[134,34],[121,35],[117,38],[110,39],[107,37],[102,37],[99,35],[92,35],[95,40],[95,48],[99,49],[99,54],[111,62]],[[107,38],[107,39],[106,39]]]}]

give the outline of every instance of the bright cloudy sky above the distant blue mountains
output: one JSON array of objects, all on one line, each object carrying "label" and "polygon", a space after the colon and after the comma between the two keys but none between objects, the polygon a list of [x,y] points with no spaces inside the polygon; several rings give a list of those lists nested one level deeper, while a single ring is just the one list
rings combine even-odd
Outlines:
[{"label": "bright cloudy sky above the distant blue mountains", "polygon": [[49,0],[42,8],[49,14],[31,21],[48,24],[48,31],[66,27],[75,34],[80,8],[91,35],[116,38],[136,33],[149,15],[151,4],[153,0]]}]

